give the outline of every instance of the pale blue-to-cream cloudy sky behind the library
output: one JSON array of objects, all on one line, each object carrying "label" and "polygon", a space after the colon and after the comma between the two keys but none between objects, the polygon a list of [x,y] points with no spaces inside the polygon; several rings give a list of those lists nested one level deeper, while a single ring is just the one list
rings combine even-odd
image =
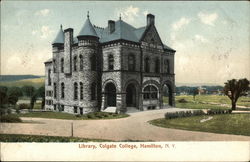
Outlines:
[{"label": "pale blue-to-cream cloudy sky behind the library", "polygon": [[174,48],[178,83],[223,84],[250,79],[250,2],[247,1],[2,1],[1,75],[44,75],[60,25],[77,36],[87,11],[92,24],[134,27],[155,15],[162,42]]}]

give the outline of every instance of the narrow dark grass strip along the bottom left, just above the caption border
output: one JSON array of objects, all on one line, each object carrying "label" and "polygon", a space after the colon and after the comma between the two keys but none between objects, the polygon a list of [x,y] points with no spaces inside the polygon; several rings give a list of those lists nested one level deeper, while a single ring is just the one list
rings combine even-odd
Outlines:
[{"label": "narrow dark grass strip along the bottom left, just above the caption border", "polygon": [[0,142],[108,142],[109,140],[77,137],[0,134]]}]

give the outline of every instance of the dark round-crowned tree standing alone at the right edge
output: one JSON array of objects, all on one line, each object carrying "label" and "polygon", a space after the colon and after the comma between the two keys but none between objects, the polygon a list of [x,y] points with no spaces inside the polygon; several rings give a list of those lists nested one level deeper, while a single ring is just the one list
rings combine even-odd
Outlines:
[{"label": "dark round-crowned tree standing alone at the right edge", "polygon": [[247,94],[249,90],[249,80],[244,79],[232,79],[228,80],[224,86],[224,93],[227,95],[232,103],[232,110],[236,109],[236,103],[239,97]]}]

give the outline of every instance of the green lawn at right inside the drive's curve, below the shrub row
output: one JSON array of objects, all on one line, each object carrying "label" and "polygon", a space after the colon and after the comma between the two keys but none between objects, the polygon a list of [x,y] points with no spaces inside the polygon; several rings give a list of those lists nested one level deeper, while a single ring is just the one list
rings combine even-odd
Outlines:
[{"label": "green lawn at right inside the drive's curve, below the shrub row", "polygon": [[149,123],[165,128],[250,136],[250,114],[213,115],[213,119],[201,123],[204,118],[208,116],[156,119]]}]

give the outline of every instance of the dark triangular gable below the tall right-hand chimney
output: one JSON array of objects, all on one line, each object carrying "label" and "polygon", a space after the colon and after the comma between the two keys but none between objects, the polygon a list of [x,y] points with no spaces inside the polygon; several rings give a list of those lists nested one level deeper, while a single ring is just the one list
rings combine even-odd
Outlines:
[{"label": "dark triangular gable below the tall right-hand chimney", "polygon": [[141,42],[153,44],[156,46],[163,46],[161,38],[154,25],[150,25],[142,35]]}]

